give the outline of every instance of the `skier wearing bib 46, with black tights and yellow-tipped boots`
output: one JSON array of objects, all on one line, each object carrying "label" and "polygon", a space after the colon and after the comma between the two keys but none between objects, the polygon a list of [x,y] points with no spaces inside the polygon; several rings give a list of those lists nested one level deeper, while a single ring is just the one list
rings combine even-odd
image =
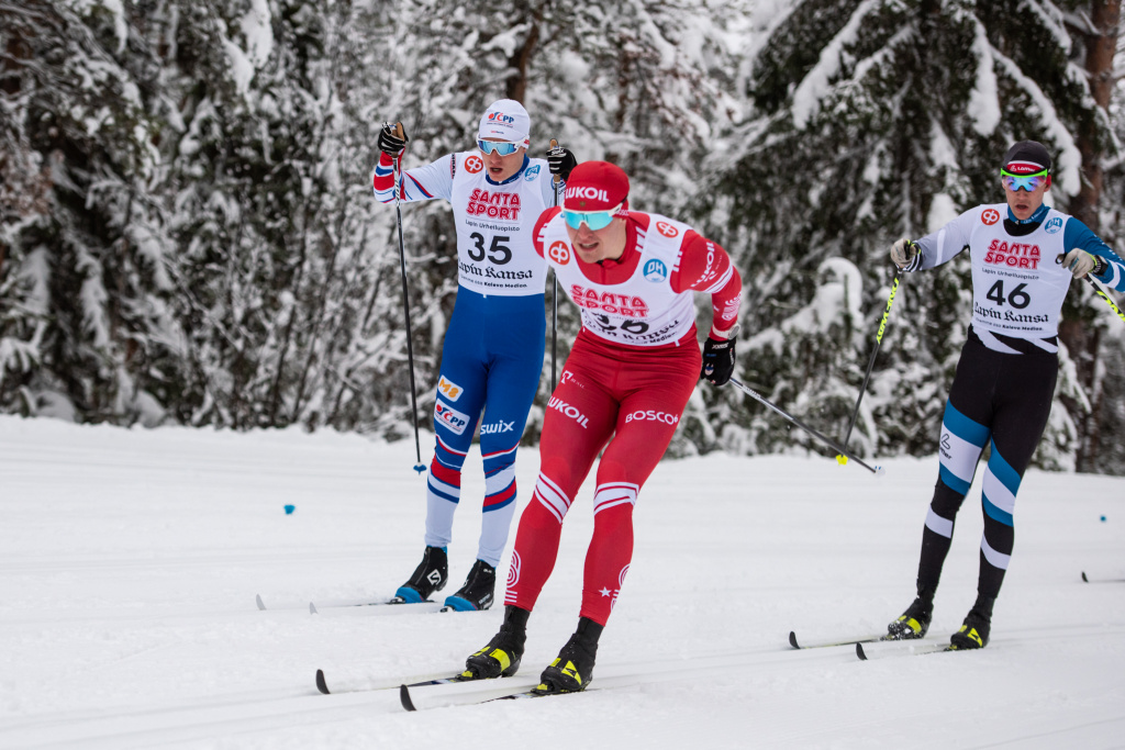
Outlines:
[{"label": "skier wearing bib 46, with black tights and yellow-tipped boots", "polygon": [[[1047,424],[1059,373],[1059,314],[1072,278],[1092,273],[1125,290],[1125,264],[1086,225],[1043,204],[1051,156],[1034,141],[1012,145],[1000,168],[1006,204],[972,208],[918,241],[899,240],[891,260],[928,270],[968,250],[973,317],[942,419],[940,469],[922,530],[918,597],[888,626],[892,639],[926,634],[957,509],[976,462],[984,469],[984,534],[976,602],[950,639],[988,644],[992,605],[1011,559],[1016,494]],[[1061,262],[1060,262],[1061,261]]]}]

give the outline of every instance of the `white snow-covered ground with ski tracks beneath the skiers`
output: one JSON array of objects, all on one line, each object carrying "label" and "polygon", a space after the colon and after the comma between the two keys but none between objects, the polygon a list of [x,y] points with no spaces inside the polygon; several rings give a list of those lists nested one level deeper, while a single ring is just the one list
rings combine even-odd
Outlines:
[{"label": "white snow-covered ground with ski tracks beneath the skiers", "polygon": [[[789,649],[790,630],[879,632],[909,604],[933,459],[885,462],[882,479],[814,457],[658,467],[593,687],[656,665],[659,679],[417,713],[395,690],[320,695],[317,668],[338,685],[456,669],[500,624],[500,607],[326,606],[390,596],[417,562],[413,449],[0,417],[0,747],[1125,747],[1125,584],[1080,579],[1125,577],[1123,479],[1029,472],[984,651],[861,662],[847,647]],[[479,467],[467,466],[447,594],[476,551]],[[519,467],[525,501],[538,454]],[[974,597],[979,493],[935,640]],[[576,623],[590,495],[567,519],[521,676]]]}]

